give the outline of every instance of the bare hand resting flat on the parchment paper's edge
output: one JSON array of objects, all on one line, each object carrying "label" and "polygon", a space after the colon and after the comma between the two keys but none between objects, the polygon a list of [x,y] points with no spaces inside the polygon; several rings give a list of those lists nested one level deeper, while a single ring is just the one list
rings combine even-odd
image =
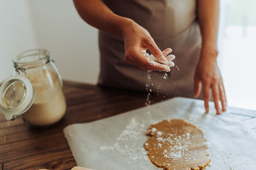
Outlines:
[{"label": "bare hand resting flat on the parchment paper's edge", "polygon": [[[211,89],[217,114],[221,114],[222,111],[226,111],[227,99],[221,73],[216,61],[218,52],[210,53],[209,51],[210,50],[202,50],[201,58],[196,68],[195,97],[200,95],[201,89],[203,88],[205,110],[208,113],[209,92]],[[222,111],[219,101],[221,101]]]}]

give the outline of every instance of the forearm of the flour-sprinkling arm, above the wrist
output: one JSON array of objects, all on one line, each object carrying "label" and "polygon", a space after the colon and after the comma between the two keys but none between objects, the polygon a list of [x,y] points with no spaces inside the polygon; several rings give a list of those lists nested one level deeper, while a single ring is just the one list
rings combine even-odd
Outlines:
[{"label": "forearm of the flour-sprinkling arm, above the wrist", "polygon": [[102,31],[122,36],[132,20],[113,13],[101,0],[73,0],[77,12],[85,22]]}]

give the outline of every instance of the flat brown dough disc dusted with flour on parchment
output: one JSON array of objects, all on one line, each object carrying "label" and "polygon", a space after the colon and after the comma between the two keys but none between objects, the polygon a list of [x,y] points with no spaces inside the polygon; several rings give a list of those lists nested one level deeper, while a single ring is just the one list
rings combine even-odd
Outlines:
[{"label": "flat brown dough disc dusted with flour on parchment", "polygon": [[149,125],[144,143],[153,164],[163,169],[204,169],[211,159],[204,132],[181,119]]}]

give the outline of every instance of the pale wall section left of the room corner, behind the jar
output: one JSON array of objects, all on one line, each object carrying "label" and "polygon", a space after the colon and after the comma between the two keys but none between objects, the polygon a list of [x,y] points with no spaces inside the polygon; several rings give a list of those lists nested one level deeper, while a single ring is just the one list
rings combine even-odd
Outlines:
[{"label": "pale wall section left of the room corner, behind the jar", "polygon": [[12,57],[37,48],[27,1],[0,0],[0,82],[13,73]]}]

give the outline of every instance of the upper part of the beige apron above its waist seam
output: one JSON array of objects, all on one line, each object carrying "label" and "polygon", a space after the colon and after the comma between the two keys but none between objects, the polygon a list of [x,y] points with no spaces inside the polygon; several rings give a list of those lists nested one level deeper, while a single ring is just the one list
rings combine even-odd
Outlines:
[{"label": "upper part of the beige apron above its waist seam", "polygon": [[152,38],[166,39],[188,29],[196,18],[196,0],[104,0],[114,13],[131,18]]}]

